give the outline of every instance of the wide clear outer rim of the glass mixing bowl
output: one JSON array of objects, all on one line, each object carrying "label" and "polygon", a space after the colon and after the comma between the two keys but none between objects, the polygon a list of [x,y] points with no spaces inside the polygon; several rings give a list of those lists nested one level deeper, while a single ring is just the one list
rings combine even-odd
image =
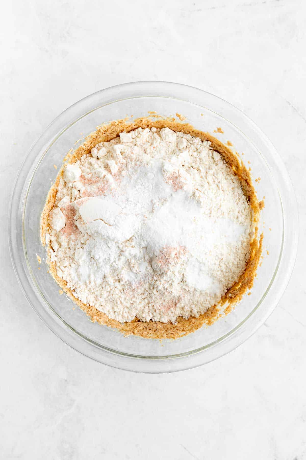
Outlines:
[{"label": "wide clear outer rim of the glass mixing bowl", "polygon": [[[152,92],[154,94],[152,94]],[[187,94],[186,98],[173,97],[173,94]],[[139,97],[166,97],[174,98],[180,101],[192,102],[193,100],[199,101],[205,99],[205,105],[198,105],[200,108],[205,108],[211,110],[207,107],[211,104],[212,107],[218,108],[218,111],[211,110],[214,113],[217,113],[219,116],[223,116],[229,123],[234,125],[240,132],[242,132],[250,143],[253,145],[254,142],[249,138],[248,131],[251,132],[252,137],[257,139],[259,144],[261,143],[262,148],[265,148],[266,153],[273,158],[273,178],[277,179],[278,192],[280,198],[280,204],[283,211],[283,238],[282,246],[280,250],[280,255],[278,259],[278,264],[273,274],[273,277],[269,283],[269,286],[266,289],[266,292],[261,297],[260,301],[253,308],[253,310],[236,325],[231,331],[224,334],[219,339],[211,342],[208,345],[204,345],[195,350],[191,350],[184,353],[179,353],[170,356],[140,356],[124,353],[121,351],[116,351],[109,349],[100,344],[96,344],[91,339],[85,337],[83,334],[76,331],[72,328],[67,322],[65,322],[51,307],[51,305],[46,301],[43,294],[43,299],[49,305],[50,310],[47,311],[42,307],[42,301],[38,297],[38,293],[33,290],[33,276],[32,285],[29,279],[29,274],[31,274],[31,269],[28,264],[26,250],[25,250],[25,240],[24,240],[24,227],[23,227],[23,217],[25,212],[26,199],[28,195],[28,190],[31,185],[33,175],[42,161],[44,155],[49,150],[51,145],[59,138],[63,132],[65,132],[69,127],[71,127],[76,121],[83,118],[83,116],[88,115],[90,112],[99,109],[102,106],[112,104],[121,100],[126,100],[130,98],[139,98]],[[170,96],[172,94],[172,96]],[[120,98],[117,96],[120,95]],[[116,96],[116,98],[114,98]],[[190,99],[192,99],[190,101]],[[97,102],[100,104],[97,105]],[[103,102],[103,104],[101,104]],[[85,110],[84,110],[85,109]],[[220,112],[222,112],[220,114]],[[230,114],[231,119],[228,119],[227,114]],[[233,116],[234,115],[234,116]],[[232,119],[235,123],[232,122]],[[242,130],[240,126],[244,125]],[[51,140],[51,141],[50,141]],[[255,145],[256,150],[258,150],[257,144]],[[41,152],[44,152],[41,155]],[[265,156],[261,154],[261,151],[258,150],[261,157],[265,160]],[[270,159],[271,160],[271,159]],[[267,162],[267,161],[266,161]],[[269,165],[267,165],[269,167]],[[271,170],[271,168],[270,168]],[[281,187],[281,191],[279,190]],[[282,200],[283,198],[283,200]],[[285,222],[284,213],[290,209],[290,219],[287,219]],[[17,173],[15,180],[13,193],[11,194],[11,200],[9,205],[9,214],[8,214],[8,234],[9,234],[9,248],[11,254],[11,260],[14,267],[17,280],[22,288],[23,293],[25,294],[28,302],[33,307],[34,311],[39,315],[43,322],[54,332],[60,339],[65,343],[72,346],[75,350],[81,352],[83,355],[91,357],[98,362],[104,364],[122,368],[127,370],[132,370],[136,372],[174,372],[177,370],[183,370],[187,368],[193,368],[200,366],[206,362],[213,361],[218,357],[223,356],[224,354],[232,351],[234,348],[243,343],[248,337],[256,332],[256,330],[266,321],[267,317],[270,316],[274,308],[276,307],[279,299],[281,298],[284,290],[289,282],[294,264],[295,257],[297,253],[297,244],[298,244],[298,214],[297,214],[297,205],[295,200],[295,194],[290,182],[289,174],[284,166],[283,161],[278,155],[273,144],[269,141],[267,136],[256,126],[256,124],[251,121],[243,112],[234,107],[232,104],[229,104],[227,101],[224,101],[222,98],[212,95],[209,92],[194,88],[192,86],[181,85],[178,83],[164,82],[164,81],[139,81],[139,82],[130,82],[124,83],[122,85],[111,86],[106,89],[102,89],[98,92],[90,94],[80,101],[72,104],[69,108],[64,110],[60,115],[58,115],[45,129],[45,131],[39,136],[39,138],[34,142],[26,156],[25,160],[22,162],[21,167]],[[20,249],[22,248],[22,253],[25,256],[22,262],[20,261]],[[286,251],[286,254],[284,254]],[[282,260],[286,256],[286,267],[280,273],[278,270]],[[28,273],[27,273],[28,270]],[[273,298],[270,299],[270,305],[266,306],[265,309],[260,308],[263,300],[266,298],[270,289],[275,282],[275,278],[278,276],[277,291],[274,293]],[[36,287],[38,288],[38,287]],[[40,291],[39,291],[40,292]],[[254,324],[250,324],[250,318],[254,316],[256,311],[260,310],[260,315],[258,320]],[[254,319],[254,318],[253,318]],[[247,324],[247,328],[245,325]],[[63,327],[64,325],[64,327]],[[67,334],[68,333],[68,334]],[[76,339],[78,337],[78,339]],[[80,342],[82,341],[82,343]],[[84,347],[84,343],[87,345]],[[221,346],[223,344],[223,346]],[[226,346],[224,347],[224,345]],[[88,346],[89,345],[89,346]],[[229,345],[229,346],[228,346]],[[217,347],[218,346],[218,347]],[[94,347],[94,348],[93,348]],[[217,350],[218,348],[218,350]],[[97,352],[97,350],[102,351],[102,354]],[[210,357],[205,357],[205,351],[208,349],[213,350]],[[113,357],[116,356],[114,360]],[[195,357],[196,359],[186,358]],[[136,364],[137,362],[146,362],[149,365]],[[180,361],[180,364],[173,366],[173,362]],[[169,366],[169,361],[171,365]],[[152,365],[154,363],[154,365]],[[165,366],[165,363],[167,364]]]}]

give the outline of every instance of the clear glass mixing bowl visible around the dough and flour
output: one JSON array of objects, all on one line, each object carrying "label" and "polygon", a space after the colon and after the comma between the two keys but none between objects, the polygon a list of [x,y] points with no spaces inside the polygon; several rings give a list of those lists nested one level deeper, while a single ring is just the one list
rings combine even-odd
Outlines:
[{"label": "clear glass mixing bowl visible around the dough and flour", "polygon": [[[104,121],[134,118],[156,111],[187,117],[196,128],[233,144],[245,164],[250,161],[258,199],[265,196],[260,232],[264,258],[251,295],[208,328],[177,340],[124,337],[92,323],[47,272],[39,219],[47,192],[64,156],[76,141]],[[221,127],[223,133],[215,132]],[[297,250],[296,201],[288,173],[271,142],[242,112],[223,99],[190,86],[142,81],[96,92],[59,115],[31,148],[11,197],[9,242],[22,290],[45,324],[68,345],[104,364],[137,372],[173,372],[210,362],[250,337],[278,303],[292,272]],[[271,229],[271,230],[270,230]],[[267,255],[268,252],[268,255]],[[39,265],[37,255],[42,259]]]}]

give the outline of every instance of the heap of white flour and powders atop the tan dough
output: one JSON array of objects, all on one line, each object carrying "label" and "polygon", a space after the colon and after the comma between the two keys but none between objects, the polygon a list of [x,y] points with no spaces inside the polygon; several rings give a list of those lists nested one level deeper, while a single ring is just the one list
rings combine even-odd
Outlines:
[{"label": "heap of white flour and powders atop the tan dough", "polygon": [[65,167],[46,241],[78,299],[120,322],[175,322],[238,280],[251,210],[209,144],[138,128]]}]

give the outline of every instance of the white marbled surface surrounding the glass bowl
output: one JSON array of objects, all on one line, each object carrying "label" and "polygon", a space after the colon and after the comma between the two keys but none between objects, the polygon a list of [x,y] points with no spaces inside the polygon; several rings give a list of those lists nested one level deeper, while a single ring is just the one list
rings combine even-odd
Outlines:
[{"label": "white marbled surface surrounding the glass bowl", "polygon": [[[15,0],[1,13],[1,458],[306,459],[305,2]],[[70,349],[28,305],[8,251],[11,184],[35,138],[78,99],[137,80],[242,109],[278,149],[299,205],[295,270],[272,316],[237,350],[177,374]]]}]

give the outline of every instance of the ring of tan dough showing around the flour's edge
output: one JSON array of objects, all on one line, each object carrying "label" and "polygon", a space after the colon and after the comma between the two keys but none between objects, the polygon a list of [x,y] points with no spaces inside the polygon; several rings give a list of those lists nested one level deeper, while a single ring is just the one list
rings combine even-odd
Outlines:
[{"label": "ring of tan dough showing around the flour's edge", "polygon": [[[248,198],[250,206],[253,209],[255,236],[250,244],[250,259],[247,262],[244,273],[239,277],[238,282],[234,283],[234,285],[228,289],[219,305],[212,306],[208,309],[208,311],[206,311],[206,313],[200,315],[199,318],[189,317],[188,319],[184,319],[182,317],[178,317],[176,324],[153,321],[142,322],[135,318],[131,322],[122,324],[116,320],[108,318],[105,313],[100,312],[94,306],[83,304],[79,299],[74,297],[73,292],[67,288],[66,282],[57,276],[55,263],[51,262],[48,258],[47,263],[49,265],[49,271],[51,275],[56,280],[61,289],[73,300],[73,302],[77,304],[91,318],[93,322],[96,321],[99,324],[104,324],[111,328],[116,328],[126,336],[133,334],[150,339],[177,339],[178,337],[182,337],[196,331],[203,325],[211,325],[219,317],[222,316],[224,310],[224,308],[222,308],[223,306],[226,306],[224,313],[228,314],[234,308],[234,304],[240,301],[245,292],[253,287],[257,266],[261,256],[263,235],[261,234],[260,237],[258,236],[258,227],[256,223],[259,222],[260,207],[262,207],[262,205],[257,200],[256,192],[252,185],[250,172],[245,168],[245,165],[241,160],[239,160],[238,156],[235,155],[232,150],[228,149],[228,147],[222,144],[222,142],[220,142],[217,138],[211,136],[211,134],[207,132],[197,130],[189,123],[185,123],[184,117],[182,115],[180,115],[179,118],[182,121],[177,121],[172,117],[162,117],[156,114],[151,114],[150,117],[141,117],[133,121],[122,119],[104,123],[98,127],[95,132],[89,134],[89,136],[85,138],[84,143],[80,145],[77,150],[75,150],[73,153],[68,153],[64,159],[64,161],[66,161],[65,164],[74,163],[79,158],[81,158],[82,155],[90,153],[91,149],[95,147],[95,145],[99,142],[110,141],[111,139],[117,137],[120,132],[129,132],[138,127],[169,127],[173,131],[184,132],[185,134],[190,134],[192,136],[198,137],[201,140],[210,141],[212,149],[216,150],[220,153],[220,155],[223,156],[223,159],[228,163],[228,165],[230,165],[234,174],[237,175],[240,179],[245,196]],[[217,132],[223,131],[221,128],[218,128]],[[60,177],[63,174],[63,169],[64,166],[61,167],[57,175],[56,182],[48,193],[45,207],[41,214],[40,235],[43,246],[45,246],[45,232],[49,226],[49,213],[54,207],[56,189]]]}]

